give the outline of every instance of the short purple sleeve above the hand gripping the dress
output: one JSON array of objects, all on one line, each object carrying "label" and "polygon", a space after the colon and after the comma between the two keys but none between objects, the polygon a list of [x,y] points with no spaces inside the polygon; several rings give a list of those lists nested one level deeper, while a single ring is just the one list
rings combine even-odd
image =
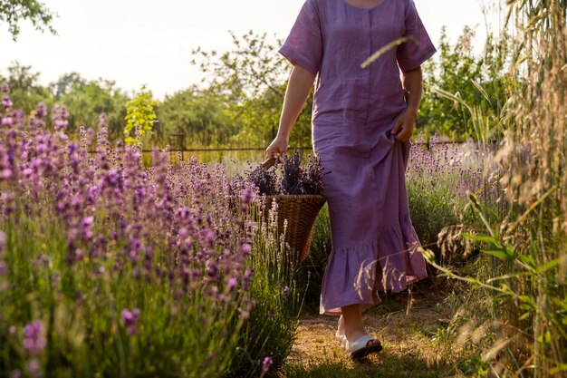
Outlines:
[{"label": "short purple sleeve above the hand gripping the dress", "polygon": [[407,73],[418,68],[421,63],[427,61],[437,52],[421,22],[421,18],[419,18],[413,0],[408,0],[406,5],[406,33],[404,36],[410,39],[399,45],[396,58],[398,59],[399,69]]}]

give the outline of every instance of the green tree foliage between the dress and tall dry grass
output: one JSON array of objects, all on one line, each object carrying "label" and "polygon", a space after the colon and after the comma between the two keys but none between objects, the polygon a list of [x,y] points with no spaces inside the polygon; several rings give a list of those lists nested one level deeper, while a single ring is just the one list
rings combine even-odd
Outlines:
[{"label": "green tree foliage between the dress and tall dry grass", "polygon": [[473,49],[475,31],[466,26],[456,44],[449,44],[444,28],[438,54],[423,65],[425,94],[418,115],[418,129],[453,140],[478,139],[477,113],[498,118],[505,103],[505,54],[503,44],[489,35],[485,52]]}]

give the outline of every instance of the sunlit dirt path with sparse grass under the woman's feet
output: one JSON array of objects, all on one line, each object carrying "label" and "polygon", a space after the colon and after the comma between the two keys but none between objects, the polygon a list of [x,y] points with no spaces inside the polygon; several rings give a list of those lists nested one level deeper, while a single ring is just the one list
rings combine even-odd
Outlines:
[{"label": "sunlit dirt path with sparse grass under the woman's feet", "polygon": [[[413,293],[382,296],[383,303],[364,315],[370,334],[384,350],[354,363],[334,339],[337,317],[303,315],[285,377],[445,377],[456,375],[459,360],[447,341],[451,308],[447,293],[429,283]],[[408,308],[410,306],[410,308]]]}]

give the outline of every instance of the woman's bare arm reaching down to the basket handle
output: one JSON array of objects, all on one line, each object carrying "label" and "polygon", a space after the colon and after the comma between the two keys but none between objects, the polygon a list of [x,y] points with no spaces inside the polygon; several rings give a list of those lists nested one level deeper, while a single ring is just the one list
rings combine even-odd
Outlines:
[{"label": "woman's bare arm reaching down to the basket handle", "polygon": [[295,64],[283,98],[283,109],[277,135],[265,150],[267,156],[279,155],[287,150],[293,124],[303,110],[309,97],[315,76],[302,66]]}]

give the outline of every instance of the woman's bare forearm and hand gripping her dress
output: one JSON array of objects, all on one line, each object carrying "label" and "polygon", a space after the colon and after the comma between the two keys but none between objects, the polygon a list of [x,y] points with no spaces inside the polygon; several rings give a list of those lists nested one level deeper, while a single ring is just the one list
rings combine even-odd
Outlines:
[{"label": "woman's bare forearm and hand gripping her dress", "polygon": [[402,73],[402,85],[406,92],[406,111],[402,112],[390,133],[398,141],[408,141],[413,134],[413,126],[418,117],[419,102],[423,93],[423,74],[421,66]]}]

